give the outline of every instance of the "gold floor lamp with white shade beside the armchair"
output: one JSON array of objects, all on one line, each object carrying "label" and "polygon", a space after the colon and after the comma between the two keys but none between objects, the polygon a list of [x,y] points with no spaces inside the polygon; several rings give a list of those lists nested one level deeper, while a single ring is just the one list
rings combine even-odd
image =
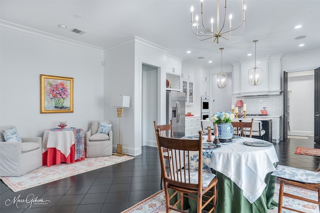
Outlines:
[{"label": "gold floor lamp with white shade beside the armchair", "polygon": [[122,145],[120,143],[120,118],[122,117],[123,107],[130,107],[130,96],[112,96],[111,107],[117,107],[116,114],[119,118],[119,143],[116,145],[116,153],[113,153],[113,155],[124,156],[125,154],[123,154]]}]

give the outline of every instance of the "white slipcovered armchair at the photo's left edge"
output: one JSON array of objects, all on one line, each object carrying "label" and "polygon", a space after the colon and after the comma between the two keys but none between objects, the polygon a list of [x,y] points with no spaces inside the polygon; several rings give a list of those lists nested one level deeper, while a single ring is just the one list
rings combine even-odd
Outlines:
[{"label": "white slipcovered armchair at the photo's left edge", "polygon": [[21,138],[21,142],[5,141],[0,128],[0,177],[21,176],[42,166],[42,139]]}]

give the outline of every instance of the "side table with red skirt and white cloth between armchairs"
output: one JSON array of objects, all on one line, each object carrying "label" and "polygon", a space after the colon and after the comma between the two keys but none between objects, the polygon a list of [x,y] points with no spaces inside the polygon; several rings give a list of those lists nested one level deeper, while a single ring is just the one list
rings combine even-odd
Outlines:
[{"label": "side table with red skirt and white cloth between armchairs", "polygon": [[50,167],[61,162],[84,160],[84,132],[82,129],[45,130],[42,137],[42,165]]}]

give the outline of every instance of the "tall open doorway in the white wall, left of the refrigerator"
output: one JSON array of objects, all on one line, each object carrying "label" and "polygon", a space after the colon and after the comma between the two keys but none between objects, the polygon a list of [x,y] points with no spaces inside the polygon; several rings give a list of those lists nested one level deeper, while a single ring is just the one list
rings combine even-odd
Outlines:
[{"label": "tall open doorway in the white wall, left of the refrigerator", "polygon": [[142,64],[142,146],[157,146],[153,121],[158,118],[158,67]]}]

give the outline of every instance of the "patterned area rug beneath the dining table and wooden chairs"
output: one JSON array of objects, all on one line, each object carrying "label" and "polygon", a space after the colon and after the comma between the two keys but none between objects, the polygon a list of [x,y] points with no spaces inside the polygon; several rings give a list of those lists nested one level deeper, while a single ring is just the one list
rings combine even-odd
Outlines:
[{"label": "patterned area rug beneath the dining table and wooden chairs", "polygon": [[[299,195],[311,200],[317,200],[317,193],[309,190],[302,190],[295,187],[284,186],[284,190],[294,195]],[[278,201],[279,184],[275,184],[273,200]],[[299,200],[283,197],[283,205],[292,209],[299,210],[305,213],[319,213],[319,207],[312,203],[306,203]],[[175,211],[171,211],[175,212]],[[269,210],[269,213],[277,213],[278,208]],[[122,213],[165,213],[164,191],[155,193],[133,207],[125,210]],[[292,213],[291,211],[282,209],[282,213]]]}]

